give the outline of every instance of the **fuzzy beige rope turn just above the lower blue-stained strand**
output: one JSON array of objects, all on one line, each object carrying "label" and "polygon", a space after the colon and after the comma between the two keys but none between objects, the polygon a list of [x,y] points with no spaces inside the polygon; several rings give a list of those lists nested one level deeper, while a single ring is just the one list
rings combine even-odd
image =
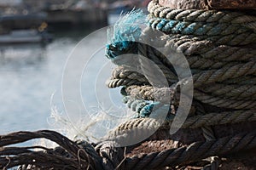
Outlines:
[{"label": "fuzzy beige rope turn just above the lower blue-stained strand", "polygon": [[[237,89],[235,89],[235,87],[237,87]],[[195,99],[198,99],[203,103],[222,106],[222,107],[229,107],[233,109],[247,109],[247,108],[253,108],[255,106],[255,99],[250,97],[250,93],[251,93],[250,89],[255,90],[254,86],[248,86],[248,85],[226,86],[223,84],[216,84],[215,87],[214,86],[205,87],[202,89],[206,93],[213,94],[213,95],[209,95],[206,93],[202,93],[199,90],[195,90],[194,91]],[[246,90],[248,90],[247,94],[245,93]],[[150,86],[131,86],[131,88],[125,88],[125,93],[126,95],[129,95],[135,99],[154,100],[154,99],[160,99],[160,96],[166,93],[172,94],[173,89],[172,88],[154,88]],[[239,98],[239,96],[241,96],[241,98]],[[143,103],[143,101],[139,103]],[[132,107],[141,109],[141,107],[136,107],[136,105],[138,105],[138,103],[133,105]]]}]

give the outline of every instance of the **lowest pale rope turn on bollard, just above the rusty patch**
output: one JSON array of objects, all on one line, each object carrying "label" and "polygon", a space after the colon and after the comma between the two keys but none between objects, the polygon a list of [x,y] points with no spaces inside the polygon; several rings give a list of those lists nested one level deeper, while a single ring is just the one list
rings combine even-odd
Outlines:
[{"label": "lowest pale rope turn on bollard, just above the rusty patch", "polygon": [[[256,111],[226,111],[221,113],[207,113],[206,115],[189,116],[183,123],[181,128],[198,128],[205,126],[215,126],[223,124],[234,124],[239,122],[254,122],[256,121]],[[172,118],[166,119],[166,122],[172,123]],[[137,118],[124,122],[109,133],[108,138],[123,135],[129,131],[136,131],[136,135],[145,133],[148,130],[158,129],[159,121],[154,118]],[[166,127],[169,129],[169,127]],[[131,137],[132,138],[132,137]]]}]

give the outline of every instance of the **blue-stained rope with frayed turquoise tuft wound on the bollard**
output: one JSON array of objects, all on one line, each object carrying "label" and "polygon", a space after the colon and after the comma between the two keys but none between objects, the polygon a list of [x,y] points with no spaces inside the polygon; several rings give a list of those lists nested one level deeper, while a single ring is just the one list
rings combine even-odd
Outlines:
[{"label": "blue-stained rope with frayed turquoise tuft wound on the bollard", "polygon": [[[206,14],[206,16],[204,16],[204,14]],[[222,22],[219,22],[216,16],[208,19],[208,15],[213,16],[213,14],[203,12],[203,14],[196,15],[197,20],[192,20],[194,17],[193,14],[190,15],[189,20],[176,20],[176,15],[173,17],[169,16],[172,19],[158,18],[149,15],[146,20],[147,16],[143,14],[142,10],[132,10],[130,13],[123,15],[113,28],[108,30],[106,55],[114,64],[123,65],[121,62],[117,62],[119,61],[119,57],[123,57],[119,55],[138,54],[138,43],[140,42],[139,40],[142,34],[141,25],[145,25],[145,23],[148,23],[148,26],[153,29],[163,31],[166,34],[178,34],[178,36],[189,35],[185,36],[185,38],[196,37],[198,41],[207,40],[208,42],[214,42],[216,45],[246,45],[255,41],[256,32],[254,25],[235,23],[232,21],[234,18],[230,18],[228,14],[226,15],[227,18],[230,18],[228,21],[224,20],[223,15],[218,14],[218,20],[224,20]],[[184,39],[184,41],[187,40]],[[183,41],[181,40],[181,42]],[[185,45],[183,48],[186,48]],[[195,75],[197,71],[200,72],[201,70],[193,69],[193,75]],[[121,94],[124,95],[123,102],[131,111],[137,113],[136,117],[158,117],[163,113],[170,113],[167,114],[166,119],[172,119],[171,113],[174,113],[175,109],[172,111],[170,105],[164,105],[161,102],[153,100],[136,99],[132,96],[127,96],[125,88],[126,87],[121,89]],[[169,112],[169,110],[171,110],[171,112]]]}]

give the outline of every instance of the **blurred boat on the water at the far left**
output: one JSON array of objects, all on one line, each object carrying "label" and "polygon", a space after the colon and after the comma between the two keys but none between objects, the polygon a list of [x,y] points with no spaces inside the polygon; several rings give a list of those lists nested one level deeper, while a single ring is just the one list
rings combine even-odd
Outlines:
[{"label": "blurred boat on the water at the far left", "polygon": [[39,43],[50,42],[52,37],[45,31],[17,30],[9,34],[0,35],[0,44],[6,43]]}]

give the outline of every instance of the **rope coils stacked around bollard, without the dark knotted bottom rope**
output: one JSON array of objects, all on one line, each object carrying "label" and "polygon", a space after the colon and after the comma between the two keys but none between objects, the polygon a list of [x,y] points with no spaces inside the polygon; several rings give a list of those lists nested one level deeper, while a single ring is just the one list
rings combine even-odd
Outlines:
[{"label": "rope coils stacked around bollard, without the dark knotted bottom rope", "polygon": [[[199,101],[200,105],[194,104],[195,109],[189,112],[189,118],[183,123],[182,128],[201,128],[205,139],[212,141],[216,138],[211,126],[255,122],[256,17],[228,10],[173,9],[161,7],[154,1],[148,4],[148,12],[149,29],[143,30],[140,38],[146,40],[145,42],[152,42],[154,47],[164,48],[167,50],[166,54],[172,54],[173,49],[182,52],[192,72],[193,99],[194,102]],[[154,29],[165,34],[148,38]],[[160,41],[154,41],[155,39]],[[155,95],[174,93],[172,99],[175,98],[175,101],[169,105],[172,108],[169,110],[172,114],[166,117],[166,122],[170,124],[178,105],[179,90],[174,87],[180,80],[173,65],[183,68],[183,61],[171,58],[170,62],[157,49],[143,43],[137,44],[133,54],[140,54],[153,60],[154,64],[163,71],[171,88],[152,87],[147,78],[148,75],[150,77],[150,72],[144,72],[143,75],[117,64],[119,66],[113,70],[108,87],[124,87],[121,92],[125,96],[124,103],[131,111],[137,112],[137,118],[142,117],[142,119],[131,120],[120,125],[110,133],[110,139],[124,133],[140,135],[147,129],[159,128],[159,125],[154,127],[151,124],[154,119],[145,118],[153,111],[148,106],[161,107],[159,103],[155,103],[157,102]],[[115,57],[112,60],[115,63]],[[117,80],[128,82],[113,84]],[[137,80],[137,83],[132,84],[132,80]],[[211,109],[209,111],[208,106],[212,107],[212,111]],[[137,132],[138,129],[142,132]],[[211,156],[213,156],[212,165],[204,169],[218,168],[220,163],[218,157],[214,157],[214,154]],[[172,159],[172,156],[169,157]],[[149,158],[153,161],[152,159],[152,157]],[[160,161],[162,162],[163,160]],[[146,168],[144,166],[148,164],[149,167],[154,167],[148,162],[143,164],[143,167],[138,167]],[[175,165],[177,164],[172,164],[172,166]],[[131,166],[131,168],[135,167]]]}]

